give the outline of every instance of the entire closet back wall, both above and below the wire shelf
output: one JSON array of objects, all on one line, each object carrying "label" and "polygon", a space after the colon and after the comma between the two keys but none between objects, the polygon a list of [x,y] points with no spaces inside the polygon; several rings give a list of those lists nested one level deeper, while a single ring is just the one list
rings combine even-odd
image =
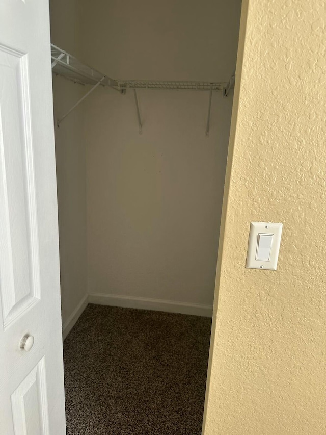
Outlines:
[{"label": "entire closet back wall, both above and below the wire shelf", "polygon": [[[114,78],[233,72],[239,0],[81,5],[83,60]],[[209,138],[208,92],[138,95],[142,135],[132,91],[97,89],[84,106],[90,301],[209,314],[233,94],[213,94]]]}]

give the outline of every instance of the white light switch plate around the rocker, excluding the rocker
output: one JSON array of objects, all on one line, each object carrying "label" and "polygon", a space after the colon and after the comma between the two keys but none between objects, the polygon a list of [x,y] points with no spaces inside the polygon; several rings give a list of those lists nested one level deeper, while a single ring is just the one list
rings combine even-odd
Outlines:
[{"label": "white light switch plate around the rocker, excluding the rocker", "polygon": [[[277,270],[277,262],[279,259],[279,252],[281,246],[282,236],[282,223],[272,222],[251,222],[250,234],[248,243],[247,264],[248,269],[262,269],[262,270]],[[256,260],[258,235],[260,234],[273,234],[273,241],[271,243],[270,257],[267,261]]]}]

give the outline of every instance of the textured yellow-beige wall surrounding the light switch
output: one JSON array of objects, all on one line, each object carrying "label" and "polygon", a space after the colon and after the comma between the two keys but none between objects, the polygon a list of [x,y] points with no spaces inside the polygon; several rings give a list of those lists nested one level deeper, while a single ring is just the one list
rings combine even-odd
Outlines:
[{"label": "textured yellow-beige wall surrounding the light switch", "polygon": [[[204,433],[322,435],[325,5],[319,0],[250,0],[244,40],[247,4]],[[249,225],[259,220],[284,223],[277,271],[244,268]]]}]

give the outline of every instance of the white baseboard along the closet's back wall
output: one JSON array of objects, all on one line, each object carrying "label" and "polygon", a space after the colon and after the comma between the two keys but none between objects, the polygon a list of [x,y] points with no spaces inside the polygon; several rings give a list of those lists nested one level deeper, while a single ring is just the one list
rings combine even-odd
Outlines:
[{"label": "white baseboard along the closet's back wall", "polygon": [[89,303],[99,305],[123,306],[140,310],[167,311],[168,313],[192,314],[195,316],[212,317],[213,306],[199,303],[176,302],[173,300],[150,299],[144,297],[90,293]]}]

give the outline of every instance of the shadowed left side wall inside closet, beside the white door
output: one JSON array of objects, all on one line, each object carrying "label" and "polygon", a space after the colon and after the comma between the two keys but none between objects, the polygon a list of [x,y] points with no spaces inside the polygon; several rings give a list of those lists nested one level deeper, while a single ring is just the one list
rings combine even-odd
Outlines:
[{"label": "shadowed left side wall inside closet, beside the white door", "polygon": [[[78,55],[77,0],[51,0],[51,41]],[[85,93],[83,86],[53,75],[55,118],[67,112]],[[58,129],[55,125],[59,212],[62,320],[65,322],[87,293],[86,150],[83,106]]]}]

